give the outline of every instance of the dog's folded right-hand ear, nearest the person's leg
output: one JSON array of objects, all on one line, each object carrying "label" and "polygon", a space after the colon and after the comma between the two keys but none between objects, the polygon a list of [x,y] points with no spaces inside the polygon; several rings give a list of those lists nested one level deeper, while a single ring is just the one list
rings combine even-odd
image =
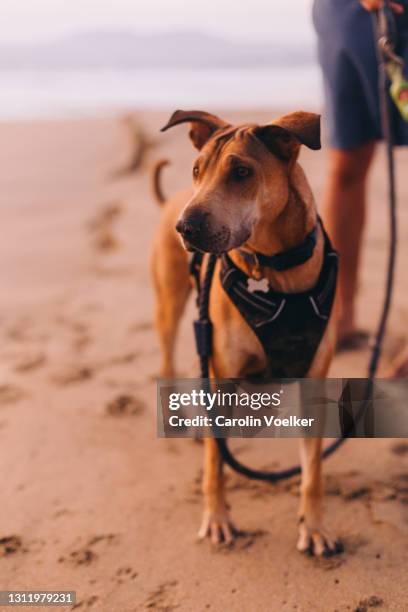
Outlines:
[{"label": "dog's folded right-hand ear, nearest the person's leg", "polygon": [[254,134],[273,153],[285,160],[296,158],[300,145],[318,150],[320,143],[320,115],[298,111],[254,129]]}]

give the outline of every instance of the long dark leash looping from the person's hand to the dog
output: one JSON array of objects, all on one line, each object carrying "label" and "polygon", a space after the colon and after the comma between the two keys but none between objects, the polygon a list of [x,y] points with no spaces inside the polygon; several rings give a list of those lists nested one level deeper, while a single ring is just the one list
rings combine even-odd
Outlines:
[{"label": "long dark leash looping from the person's hand to the dog", "polygon": [[[388,315],[391,306],[391,298],[394,286],[394,271],[397,252],[397,215],[396,215],[396,191],[395,191],[395,165],[394,165],[394,149],[393,137],[391,130],[391,109],[390,100],[387,93],[387,72],[386,59],[394,50],[395,26],[391,9],[388,0],[385,0],[383,9],[375,17],[374,31],[378,42],[378,63],[379,63],[379,97],[381,110],[381,124],[383,130],[383,138],[386,142],[387,155],[387,172],[388,172],[388,200],[389,200],[389,228],[390,228],[390,248],[387,262],[387,277],[385,286],[385,296],[383,308],[381,311],[380,320],[378,323],[375,341],[373,344],[370,361],[368,365],[368,379],[364,399],[361,403],[355,422],[350,424],[344,431],[343,436],[332,442],[322,452],[322,458],[326,459],[332,455],[354,431],[356,423],[362,418],[370,397],[372,395],[373,383],[378,368],[378,363],[381,356],[382,343],[385,336]],[[391,38],[390,38],[391,36]],[[208,256],[207,267],[204,276],[204,282],[200,287],[198,296],[199,319],[194,323],[196,344],[200,357],[201,377],[207,387],[209,387],[209,358],[211,355],[212,344],[212,327],[209,318],[209,299],[211,282],[214,275],[214,269],[217,262],[217,256],[211,254]],[[347,385],[346,385],[347,387]],[[345,391],[345,390],[344,390]],[[343,394],[344,394],[343,391]],[[341,401],[341,400],[340,400]],[[270,472],[263,470],[252,469],[240,461],[238,461],[231,453],[227,439],[215,438],[220,454],[233,470],[254,480],[264,480],[267,482],[278,482],[296,476],[301,473],[301,466],[295,465],[285,470]]]}]

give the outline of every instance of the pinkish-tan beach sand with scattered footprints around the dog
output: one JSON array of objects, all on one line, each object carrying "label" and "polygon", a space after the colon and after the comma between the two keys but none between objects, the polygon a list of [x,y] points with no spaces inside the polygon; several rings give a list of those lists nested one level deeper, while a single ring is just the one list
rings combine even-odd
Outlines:
[{"label": "pinkish-tan beach sand with scattered footprints around the dog", "polygon": [[[168,113],[138,118],[152,142],[131,176],[117,172],[131,154],[119,118],[0,126],[0,589],[75,590],[76,608],[98,612],[407,610],[407,442],[348,441],[325,464],[327,523],[346,549],[339,557],[296,552],[296,481],[273,487],[229,471],[232,517],[246,535],[232,549],[196,542],[202,447],[156,437],[148,267],[160,214],[149,167],[172,160],[163,177],[172,194],[189,184],[194,152],[185,128],[159,134]],[[302,160],[319,202],[325,152]],[[408,335],[407,162],[400,152],[383,371]],[[387,249],[383,152],[370,192],[359,314],[373,330]],[[190,304],[178,347],[185,376],[198,371],[192,313]],[[367,359],[342,354],[332,373],[364,376]],[[234,443],[263,467],[297,462],[297,446]]]}]

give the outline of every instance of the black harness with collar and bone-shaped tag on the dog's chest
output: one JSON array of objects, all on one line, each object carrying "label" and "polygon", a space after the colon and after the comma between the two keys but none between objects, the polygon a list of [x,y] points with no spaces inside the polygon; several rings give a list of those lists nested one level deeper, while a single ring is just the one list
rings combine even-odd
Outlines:
[{"label": "black harness with collar and bone-shaped tag on the dog's chest", "polygon": [[[320,220],[319,222],[321,224]],[[275,291],[266,279],[256,281],[250,278],[228,254],[221,256],[221,284],[262,344],[268,361],[265,372],[268,377],[304,377],[326,330],[336,290],[338,258],[326,232],[323,232],[324,257],[319,278],[312,289],[301,293]],[[316,235],[317,226],[300,246],[273,256],[243,251],[241,254],[256,258],[261,266],[268,265],[279,271],[287,270],[311,257]],[[265,259],[262,260],[261,257]],[[198,288],[201,263],[202,254],[196,253],[191,271]],[[196,333],[199,353],[200,344],[204,340],[202,335]]]}]

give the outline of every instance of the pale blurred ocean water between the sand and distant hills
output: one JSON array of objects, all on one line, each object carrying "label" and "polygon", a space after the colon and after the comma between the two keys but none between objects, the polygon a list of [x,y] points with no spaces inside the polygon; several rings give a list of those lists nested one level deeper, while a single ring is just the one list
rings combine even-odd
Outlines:
[{"label": "pale blurred ocean water between the sand and distant hills", "polygon": [[319,108],[318,66],[259,69],[1,71],[0,120],[66,118],[131,108]]}]

